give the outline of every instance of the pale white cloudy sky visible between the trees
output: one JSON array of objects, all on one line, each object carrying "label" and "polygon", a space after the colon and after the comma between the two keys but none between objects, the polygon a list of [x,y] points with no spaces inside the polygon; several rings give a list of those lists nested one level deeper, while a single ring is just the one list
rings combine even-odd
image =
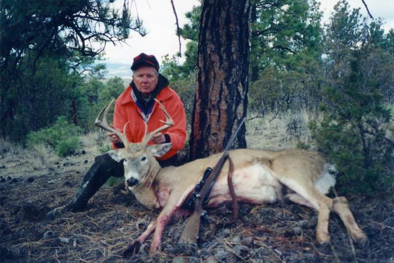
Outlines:
[{"label": "pale white cloudy sky visible between the trees", "polygon": [[[177,11],[179,27],[188,21],[184,14],[190,11],[193,5],[199,5],[198,0],[173,0]],[[117,2],[123,2],[118,0]],[[322,22],[327,22],[337,0],[321,0],[323,11]],[[368,16],[361,0],[348,0],[352,8],[361,8],[360,13]],[[374,18],[381,17],[386,22],[385,30],[394,28],[394,0],[365,0],[368,9]],[[140,36],[131,33],[126,40],[127,44],[118,43],[116,46],[107,44],[105,49],[107,77],[119,76],[131,79],[130,66],[133,58],[144,52],[155,55],[161,64],[162,58],[169,54],[170,57],[179,52],[179,40],[176,32],[176,19],[170,0],[131,0],[132,15],[138,12],[143,20],[143,27],[147,34]],[[369,19],[369,18],[368,18]],[[186,40],[181,38],[181,52],[186,50]],[[183,57],[179,62],[183,62]]]}]

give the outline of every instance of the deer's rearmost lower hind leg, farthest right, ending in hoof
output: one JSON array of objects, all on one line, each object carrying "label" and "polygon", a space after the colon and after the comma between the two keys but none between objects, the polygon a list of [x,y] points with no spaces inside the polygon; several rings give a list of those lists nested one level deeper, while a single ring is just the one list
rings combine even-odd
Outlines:
[{"label": "deer's rearmost lower hind leg, farthest right, ending in hoof", "polygon": [[365,233],[359,229],[349,209],[348,200],[345,197],[335,197],[332,210],[341,218],[352,239],[361,247],[364,247],[368,242],[368,238]]}]

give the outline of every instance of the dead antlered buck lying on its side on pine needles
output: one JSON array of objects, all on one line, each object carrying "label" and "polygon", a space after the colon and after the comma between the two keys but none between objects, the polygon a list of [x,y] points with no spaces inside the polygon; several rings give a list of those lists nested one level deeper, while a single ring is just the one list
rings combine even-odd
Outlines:
[{"label": "dead antlered buck lying on its side on pine needles", "polygon": [[[166,121],[162,121],[164,126],[150,133],[147,133],[145,126],[143,141],[129,143],[123,133],[107,124],[108,109],[112,102],[99,113],[95,121],[97,126],[116,132],[125,145],[125,148],[110,151],[109,154],[117,161],[124,160],[126,190],[132,191],[147,208],[162,209],[158,218],[149,224],[125,252],[132,250],[137,253],[144,240],[154,231],[150,246],[150,252],[154,253],[160,248],[163,230],[171,218],[188,213],[181,209],[182,203],[202,179],[204,170],[217,163],[220,154],[178,167],[162,168],[155,157],[164,155],[171,148],[171,143],[149,146],[147,143],[155,133],[174,125],[164,106],[157,101],[166,115]],[[330,242],[328,221],[330,212],[334,211],[356,243],[361,246],[367,243],[367,236],[359,229],[346,198],[331,199],[325,196],[335,185],[335,168],[326,163],[320,153],[301,149],[238,149],[229,151],[229,156],[234,163],[232,180],[239,201],[264,204],[288,198],[314,208],[318,213],[316,237],[322,245]],[[210,193],[208,207],[217,207],[223,202],[231,201],[227,185],[228,169],[228,165],[224,165]]]}]

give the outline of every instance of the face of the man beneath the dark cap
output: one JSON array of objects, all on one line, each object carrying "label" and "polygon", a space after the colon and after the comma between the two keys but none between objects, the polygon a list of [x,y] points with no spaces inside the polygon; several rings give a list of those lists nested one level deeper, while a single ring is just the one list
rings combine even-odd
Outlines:
[{"label": "face of the man beneath the dark cap", "polygon": [[133,81],[136,84],[137,90],[143,96],[148,97],[156,87],[159,76],[156,75],[156,69],[154,67],[142,66],[134,71]]}]

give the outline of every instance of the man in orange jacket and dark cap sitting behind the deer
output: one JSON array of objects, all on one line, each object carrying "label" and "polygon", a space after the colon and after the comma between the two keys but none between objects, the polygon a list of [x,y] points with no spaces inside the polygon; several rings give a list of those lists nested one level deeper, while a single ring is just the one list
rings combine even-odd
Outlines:
[{"label": "man in orange jacket and dark cap sitting behind the deer", "polygon": [[[161,110],[158,110],[159,100],[167,109],[175,125],[164,133],[157,133],[149,144],[172,143],[171,149],[162,157],[157,158],[161,166],[176,164],[177,152],[184,146],[186,140],[186,116],[183,103],[177,93],[168,85],[166,77],[159,74],[159,63],[152,55],[141,53],[133,60],[133,81],[118,97],[113,115],[113,127],[123,132],[126,126],[126,136],[130,142],[141,142],[144,136],[145,124],[148,131],[162,126],[160,120],[165,120]],[[107,132],[114,149],[123,148],[120,138],[113,132]],[[87,171],[81,186],[73,200],[66,205],[55,208],[47,214],[52,220],[67,211],[76,211],[86,206],[99,188],[111,176],[121,177],[124,174],[123,161],[116,162],[108,154],[95,158],[95,163]]]}]

